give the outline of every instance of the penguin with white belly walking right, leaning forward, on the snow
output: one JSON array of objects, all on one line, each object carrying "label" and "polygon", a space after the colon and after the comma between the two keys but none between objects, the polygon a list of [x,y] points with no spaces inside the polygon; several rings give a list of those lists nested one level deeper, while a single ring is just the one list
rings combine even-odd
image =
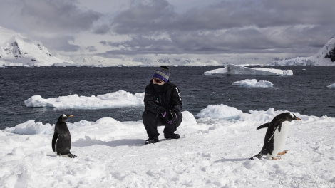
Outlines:
[{"label": "penguin with white belly walking right, leaning forward, on the snow", "polygon": [[[287,150],[279,152],[283,149],[287,140],[287,134],[289,132],[289,124],[292,120],[301,120],[296,117],[293,113],[281,113],[274,117],[271,122],[267,122],[259,127],[257,130],[267,127],[267,133],[264,138],[264,145],[261,152],[254,157],[261,158],[263,155],[272,157],[272,160],[279,160],[280,157],[277,155],[284,155]],[[253,160],[251,157],[250,160]]]}]

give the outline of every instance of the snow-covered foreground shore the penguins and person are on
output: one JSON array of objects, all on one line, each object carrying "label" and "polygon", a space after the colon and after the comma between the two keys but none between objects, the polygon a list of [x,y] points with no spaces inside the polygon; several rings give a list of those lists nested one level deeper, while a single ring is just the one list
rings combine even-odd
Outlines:
[{"label": "snow-covered foreground shore the penguins and person are on", "polygon": [[[209,105],[199,118],[183,111],[179,140],[144,145],[142,120],[103,117],[71,122],[71,152],[51,149],[54,125],[29,120],[0,130],[1,187],[335,187],[335,118],[293,121],[281,160],[248,160],[282,110],[242,113]],[[75,114],[76,115],[76,114]],[[234,116],[234,118],[230,118]],[[58,117],[55,117],[55,123]]]}]

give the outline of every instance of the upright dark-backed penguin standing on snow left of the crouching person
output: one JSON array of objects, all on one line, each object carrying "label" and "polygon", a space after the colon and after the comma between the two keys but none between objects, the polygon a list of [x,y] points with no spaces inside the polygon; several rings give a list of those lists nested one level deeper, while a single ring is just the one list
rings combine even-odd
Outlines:
[{"label": "upright dark-backed penguin standing on snow left of the crouching person", "polygon": [[71,135],[68,130],[68,125],[66,125],[66,120],[68,117],[73,117],[73,115],[63,114],[59,116],[58,121],[55,125],[55,131],[52,137],[52,150],[56,152],[57,155],[68,156],[71,158],[77,157],[71,154]]}]

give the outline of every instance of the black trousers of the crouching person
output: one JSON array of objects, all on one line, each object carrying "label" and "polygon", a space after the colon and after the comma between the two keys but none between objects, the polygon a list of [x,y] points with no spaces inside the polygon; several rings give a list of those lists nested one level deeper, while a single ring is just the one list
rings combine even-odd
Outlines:
[{"label": "black trousers of the crouching person", "polygon": [[172,133],[177,130],[177,127],[179,127],[180,123],[182,122],[182,113],[177,113],[177,119],[172,122],[172,124],[168,124],[168,122],[163,117],[160,117],[155,113],[145,110],[142,115],[142,120],[149,138],[158,138],[158,135],[160,135],[160,133],[158,133],[157,127],[165,125],[163,131],[164,134],[172,135]]}]

